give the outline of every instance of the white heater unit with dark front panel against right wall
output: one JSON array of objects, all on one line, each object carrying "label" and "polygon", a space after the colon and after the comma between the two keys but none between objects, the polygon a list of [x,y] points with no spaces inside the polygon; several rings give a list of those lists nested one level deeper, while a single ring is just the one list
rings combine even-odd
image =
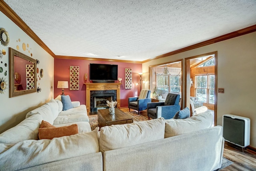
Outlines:
[{"label": "white heater unit with dark front panel against right wall", "polygon": [[250,119],[226,114],[222,116],[223,137],[225,141],[247,147],[250,145]]}]

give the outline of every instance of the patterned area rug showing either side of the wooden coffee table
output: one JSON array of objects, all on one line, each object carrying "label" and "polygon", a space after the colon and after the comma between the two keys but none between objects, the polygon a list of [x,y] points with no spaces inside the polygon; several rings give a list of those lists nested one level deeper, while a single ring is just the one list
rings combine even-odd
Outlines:
[{"label": "patterned area rug showing either side of the wooden coffee table", "polygon": [[[147,121],[148,120],[147,117],[144,117],[142,115],[138,115],[138,113],[136,111],[125,112],[125,113],[133,117],[133,122]],[[98,115],[89,115],[88,117],[89,117],[89,120],[90,120],[91,129],[94,130],[96,127],[98,127]]]}]

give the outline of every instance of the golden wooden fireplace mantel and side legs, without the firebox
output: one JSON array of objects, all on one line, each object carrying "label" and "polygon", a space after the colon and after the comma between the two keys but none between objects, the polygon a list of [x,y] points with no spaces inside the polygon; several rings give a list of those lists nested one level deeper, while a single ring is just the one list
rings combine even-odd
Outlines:
[{"label": "golden wooden fireplace mantel and side legs, without the firebox", "polygon": [[120,109],[120,85],[122,83],[84,83],[86,86],[86,109],[90,112],[90,91],[94,90],[116,90],[117,107]]}]

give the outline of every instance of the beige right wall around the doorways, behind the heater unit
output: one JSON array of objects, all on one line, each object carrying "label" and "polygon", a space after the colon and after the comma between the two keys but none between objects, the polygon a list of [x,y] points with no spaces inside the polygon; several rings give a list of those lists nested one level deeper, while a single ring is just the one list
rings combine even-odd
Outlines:
[{"label": "beige right wall around the doorways, behind the heater unit", "polygon": [[214,51],[218,51],[218,87],[225,89],[217,97],[217,125],[222,125],[222,115],[227,113],[250,118],[250,146],[256,148],[256,32],[144,63],[143,79],[148,79],[150,65]]}]

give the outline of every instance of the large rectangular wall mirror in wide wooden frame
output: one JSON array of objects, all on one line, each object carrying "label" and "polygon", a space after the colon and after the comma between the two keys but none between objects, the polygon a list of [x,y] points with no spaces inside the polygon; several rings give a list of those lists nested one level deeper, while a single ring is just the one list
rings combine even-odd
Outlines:
[{"label": "large rectangular wall mirror in wide wooden frame", "polygon": [[9,48],[9,97],[36,92],[36,60]]}]

